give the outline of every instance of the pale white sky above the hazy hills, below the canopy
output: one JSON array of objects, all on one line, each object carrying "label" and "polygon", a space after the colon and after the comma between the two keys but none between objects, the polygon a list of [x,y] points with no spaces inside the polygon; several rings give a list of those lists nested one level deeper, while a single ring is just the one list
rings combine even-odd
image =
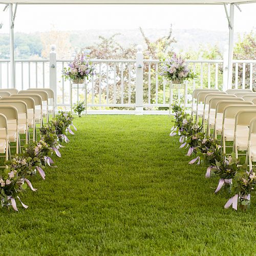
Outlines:
[{"label": "pale white sky above the hazy hills, below the canopy", "polygon": [[[235,7],[235,32],[256,28],[256,3]],[[0,5],[0,33],[9,32],[9,11]],[[228,31],[224,7],[214,5],[20,5],[15,32],[169,28]]]}]

